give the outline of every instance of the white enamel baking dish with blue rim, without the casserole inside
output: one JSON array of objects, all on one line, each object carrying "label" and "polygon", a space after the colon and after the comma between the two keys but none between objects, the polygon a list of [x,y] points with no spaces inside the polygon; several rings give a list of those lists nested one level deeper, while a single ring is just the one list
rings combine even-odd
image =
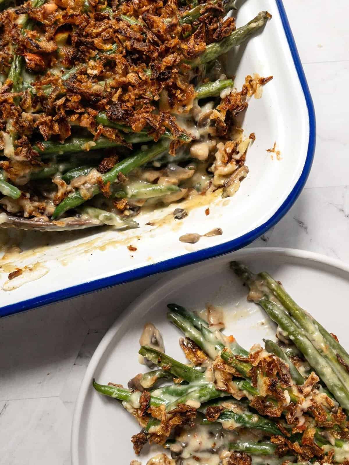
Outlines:
[{"label": "white enamel baking dish with blue rim, without the casserole inside", "polygon": [[[231,252],[265,233],[289,210],[302,190],[313,158],[314,109],[282,1],[238,3],[243,3],[238,26],[260,10],[268,10],[273,18],[261,33],[230,53],[236,86],[241,88],[248,74],[274,75],[262,98],[250,100],[244,116],[245,132],[255,132],[256,140],[248,151],[250,172],[240,190],[228,199],[217,193],[208,216],[208,199],[200,196],[201,205],[190,210],[187,218],[174,220],[172,212],[178,205],[172,205],[140,215],[140,228],[128,232],[112,228],[72,233],[0,230],[0,243],[15,244],[22,250],[7,250],[0,259],[0,316]],[[267,152],[275,142],[280,159]],[[171,221],[146,225],[166,215]],[[195,245],[178,240],[182,234],[205,234],[217,227],[223,231],[221,236],[204,237]],[[129,245],[137,250],[130,252]],[[1,289],[10,271],[36,263],[42,275],[38,281],[12,291]],[[15,278],[10,285],[24,278]]]}]

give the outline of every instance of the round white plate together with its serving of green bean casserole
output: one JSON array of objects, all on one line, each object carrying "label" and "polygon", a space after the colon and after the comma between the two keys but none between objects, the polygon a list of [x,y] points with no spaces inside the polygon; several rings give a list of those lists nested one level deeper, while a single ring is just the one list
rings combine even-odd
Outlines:
[{"label": "round white plate together with its serving of green bean casserole", "polygon": [[339,260],[279,248],[163,278],[94,352],[72,463],[347,465],[348,279]]}]

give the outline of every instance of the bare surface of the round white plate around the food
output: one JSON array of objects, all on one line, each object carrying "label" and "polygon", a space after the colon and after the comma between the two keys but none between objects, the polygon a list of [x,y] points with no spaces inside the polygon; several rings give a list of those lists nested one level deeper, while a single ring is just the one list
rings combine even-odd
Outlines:
[{"label": "bare surface of the round white plate around the food", "polygon": [[[142,372],[137,352],[143,325],[151,321],[164,338],[166,353],[184,362],[178,344],[181,335],[166,319],[166,305],[175,302],[189,310],[203,310],[207,302],[223,306],[226,334],[249,348],[262,338],[275,339],[275,325],[262,309],[246,300],[247,290],[229,261],[241,260],[253,271],[268,271],[280,279],[297,303],[307,309],[344,347],[349,347],[347,308],[349,266],[319,254],[293,249],[246,249],[190,266],[163,279],[139,297],[101,340],[81,384],[72,427],[73,465],[128,465],[135,458],[130,438],[140,427],[118,402],[99,395],[91,383],[109,381],[127,385]],[[343,310],[342,310],[343,309]],[[340,323],[340,319],[342,323]],[[343,321],[343,319],[345,319]],[[142,463],[154,455],[145,450]],[[148,452],[148,453],[147,453]],[[142,452],[143,453],[143,452]]]}]

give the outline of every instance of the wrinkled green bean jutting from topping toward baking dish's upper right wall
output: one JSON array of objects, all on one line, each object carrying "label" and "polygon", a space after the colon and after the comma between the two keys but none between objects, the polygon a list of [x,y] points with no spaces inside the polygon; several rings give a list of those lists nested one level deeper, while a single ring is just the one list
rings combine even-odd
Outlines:
[{"label": "wrinkled green bean jutting from topping toward baking dish's upper right wall", "polygon": [[222,53],[227,53],[232,47],[238,46],[247,40],[251,35],[261,29],[269,18],[270,14],[266,11],[258,13],[258,15],[245,26],[237,28],[228,35],[228,37],[225,37],[218,42],[212,42],[206,47],[205,52],[201,53],[198,58],[186,61],[186,63],[193,68],[215,60]]}]

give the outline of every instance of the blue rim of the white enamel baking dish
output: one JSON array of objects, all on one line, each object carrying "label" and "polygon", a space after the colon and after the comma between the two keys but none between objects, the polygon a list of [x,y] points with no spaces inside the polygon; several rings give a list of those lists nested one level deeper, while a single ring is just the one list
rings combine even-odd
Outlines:
[{"label": "blue rim of the white enamel baking dish", "polygon": [[295,69],[301,82],[304,98],[308,108],[309,143],[307,157],[303,166],[302,173],[298,181],[296,182],[294,188],[292,189],[291,193],[289,193],[287,199],[278,208],[274,215],[270,219],[268,219],[268,221],[266,221],[263,225],[258,226],[253,231],[250,231],[249,233],[246,233],[243,236],[240,236],[239,238],[225,242],[224,244],[208,247],[197,252],[190,252],[180,257],[174,257],[172,259],[164,260],[158,263],[154,263],[152,265],[142,266],[141,268],[137,268],[135,270],[119,273],[114,276],[108,276],[106,278],[95,279],[94,281],[89,281],[83,284],[78,284],[76,286],[67,287],[59,291],[49,292],[48,294],[44,294],[39,297],[23,300],[15,304],[10,304],[0,308],[0,317],[13,315],[14,313],[24,312],[26,310],[52,304],[60,300],[77,297],[87,292],[98,291],[106,287],[115,286],[117,284],[133,281],[135,279],[145,278],[146,276],[152,274],[173,270],[181,266],[191,265],[201,260],[206,260],[216,257],[218,255],[223,255],[224,253],[233,252],[237,249],[241,249],[242,247],[247,246],[255,239],[262,236],[262,234],[266,233],[268,229],[274,226],[289,211],[291,206],[295,203],[295,200],[297,199],[299,194],[302,192],[302,188],[306,180],[308,179],[310,168],[313,163],[315,152],[316,122],[315,110],[310,95],[309,86],[303,71],[297,47],[295,45],[295,39],[289,26],[289,20],[287,19],[285,8],[283,6],[282,0],[275,1],[280,13],[282,26],[284,28],[287,41],[289,43],[289,48],[292,54],[293,61],[295,63]]}]

